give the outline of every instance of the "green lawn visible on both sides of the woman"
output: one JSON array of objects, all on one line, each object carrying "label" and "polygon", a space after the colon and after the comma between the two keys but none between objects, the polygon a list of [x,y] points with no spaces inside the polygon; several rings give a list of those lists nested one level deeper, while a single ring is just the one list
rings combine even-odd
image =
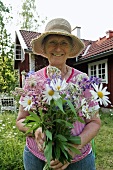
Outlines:
[{"label": "green lawn visible on both sides of the woman", "polygon": [[[102,125],[95,137],[97,170],[113,169],[113,114],[100,113]],[[15,114],[0,114],[0,170],[23,170],[25,136],[15,126]]]}]

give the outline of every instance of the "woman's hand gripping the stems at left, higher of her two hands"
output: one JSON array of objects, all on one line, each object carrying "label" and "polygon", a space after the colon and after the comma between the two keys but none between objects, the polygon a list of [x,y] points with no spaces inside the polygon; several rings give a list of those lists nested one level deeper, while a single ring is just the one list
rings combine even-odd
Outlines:
[{"label": "woman's hand gripping the stems at left, higher of her two hands", "polygon": [[42,133],[42,128],[38,128],[36,131],[35,131],[35,140],[36,140],[36,143],[38,145],[38,149],[40,152],[43,152],[44,151],[44,148],[43,148],[43,144],[44,144],[44,140],[45,140],[45,134]]}]

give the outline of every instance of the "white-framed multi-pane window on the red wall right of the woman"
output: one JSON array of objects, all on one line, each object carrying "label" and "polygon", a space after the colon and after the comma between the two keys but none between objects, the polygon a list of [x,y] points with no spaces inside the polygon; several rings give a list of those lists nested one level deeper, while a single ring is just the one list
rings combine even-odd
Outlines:
[{"label": "white-framed multi-pane window on the red wall right of the woman", "polygon": [[103,83],[108,83],[108,67],[107,59],[90,63],[88,65],[89,76],[94,76],[102,79]]}]

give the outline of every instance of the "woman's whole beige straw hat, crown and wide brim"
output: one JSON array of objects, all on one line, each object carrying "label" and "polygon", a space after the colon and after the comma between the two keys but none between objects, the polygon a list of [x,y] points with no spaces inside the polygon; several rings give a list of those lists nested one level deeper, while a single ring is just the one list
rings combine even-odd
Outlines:
[{"label": "woman's whole beige straw hat, crown and wide brim", "polygon": [[68,58],[74,58],[78,56],[84,49],[84,43],[77,36],[71,34],[70,23],[63,18],[56,18],[48,22],[44,33],[31,41],[34,54],[42,55],[43,57],[47,58],[42,47],[42,42],[47,35],[51,34],[65,35],[72,38],[73,46]]}]

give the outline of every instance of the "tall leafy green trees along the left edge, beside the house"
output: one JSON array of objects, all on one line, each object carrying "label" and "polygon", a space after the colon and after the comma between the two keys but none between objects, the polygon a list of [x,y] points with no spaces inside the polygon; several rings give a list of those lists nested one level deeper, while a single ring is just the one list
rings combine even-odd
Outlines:
[{"label": "tall leafy green trees along the left edge, beside the house", "polygon": [[10,93],[17,83],[13,68],[14,44],[6,30],[11,18],[10,10],[0,1],[0,93]]}]

